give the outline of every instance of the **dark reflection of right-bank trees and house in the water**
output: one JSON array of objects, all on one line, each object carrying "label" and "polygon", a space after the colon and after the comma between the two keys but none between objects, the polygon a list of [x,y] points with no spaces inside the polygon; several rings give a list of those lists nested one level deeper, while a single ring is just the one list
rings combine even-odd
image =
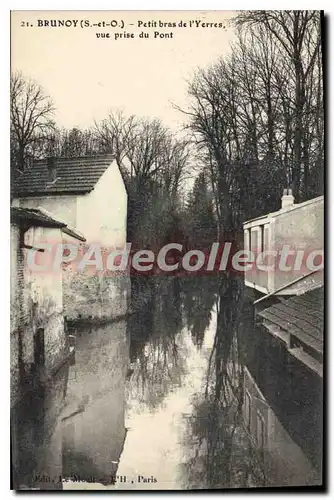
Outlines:
[{"label": "dark reflection of right-bank trees and house in the water", "polygon": [[282,362],[240,283],[222,282],[217,305],[207,386],[185,436],[187,488],[321,484],[319,380]]}]

